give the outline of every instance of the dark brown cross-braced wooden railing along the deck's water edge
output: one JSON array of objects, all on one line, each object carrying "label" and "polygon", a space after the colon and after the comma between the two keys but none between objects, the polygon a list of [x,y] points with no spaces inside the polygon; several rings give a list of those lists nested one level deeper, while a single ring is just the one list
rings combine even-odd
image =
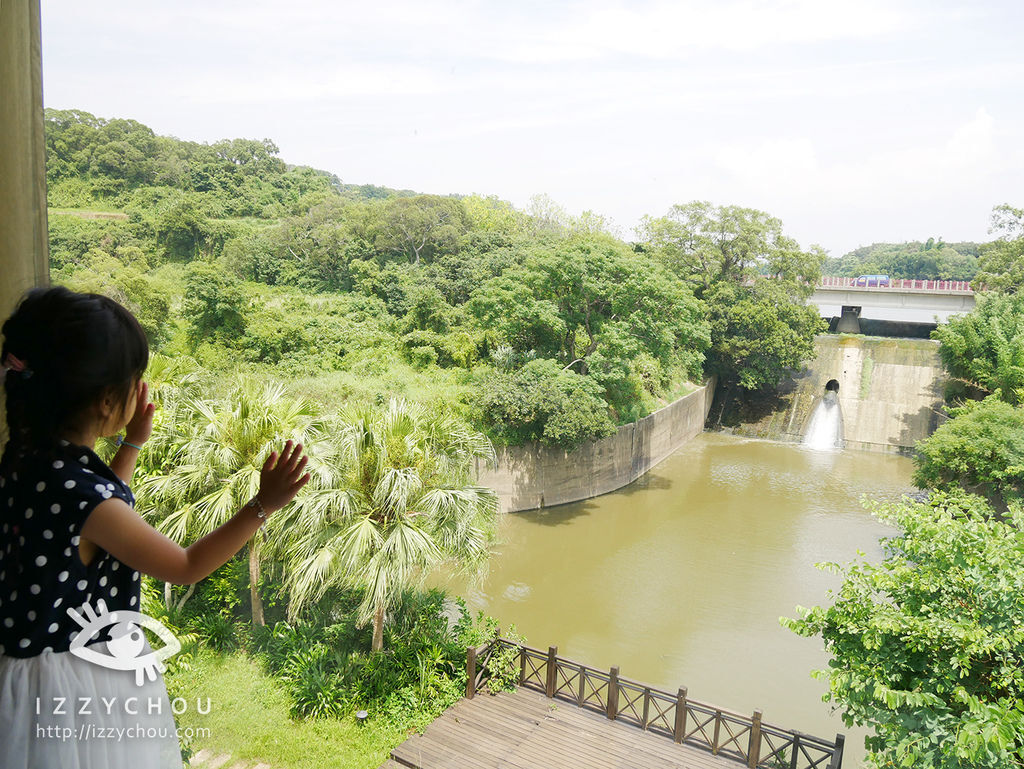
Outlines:
[{"label": "dark brown cross-braced wooden railing along the deck's water edge", "polygon": [[608,672],[558,656],[552,646],[540,649],[499,638],[466,650],[466,696],[472,698],[490,678],[494,653],[516,648],[519,685],[547,696],[603,713],[610,720],[626,721],[644,731],[663,734],[676,742],[701,747],[745,764],[750,769],[840,769],[845,737],[835,741],[782,729],[761,720],[761,711],[750,716],[663,691]]}]

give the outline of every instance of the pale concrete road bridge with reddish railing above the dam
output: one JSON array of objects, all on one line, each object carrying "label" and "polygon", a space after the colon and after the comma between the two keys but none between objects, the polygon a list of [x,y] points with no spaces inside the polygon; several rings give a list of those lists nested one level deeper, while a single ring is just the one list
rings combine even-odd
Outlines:
[{"label": "pale concrete road bridge with reddish railing above the dam", "polygon": [[821,316],[837,318],[836,331],[858,334],[861,321],[934,328],[974,309],[969,281],[890,281],[858,286],[855,277],[822,277],[808,300]]}]

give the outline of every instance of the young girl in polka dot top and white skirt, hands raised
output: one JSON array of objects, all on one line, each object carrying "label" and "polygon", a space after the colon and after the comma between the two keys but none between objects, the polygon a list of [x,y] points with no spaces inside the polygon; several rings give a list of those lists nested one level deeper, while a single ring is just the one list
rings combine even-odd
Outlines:
[{"label": "young girl in polka dot top and white skirt, hands raised", "polygon": [[[0,765],[179,769],[163,678],[123,665],[126,649],[154,652],[117,612],[140,611],[140,573],[191,584],[234,555],[309,479],[302,444],[271,453],[256,497],[181,548],[139,517],[128,485],[154,412],[135,317],[106,297],[37,289],[2,331]],[[122,430],[106,465],[93,446]]]}]

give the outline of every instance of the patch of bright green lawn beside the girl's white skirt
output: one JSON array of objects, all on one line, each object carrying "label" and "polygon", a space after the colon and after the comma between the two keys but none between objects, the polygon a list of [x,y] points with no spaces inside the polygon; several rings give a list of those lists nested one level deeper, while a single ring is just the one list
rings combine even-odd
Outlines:
[{"label": "patch of bright green lawn beside the girl's white skirt", "polygon": [[[407,736],[372,720],[359,727],[354,716],[293,720],[282,684],[241,652],[199,652],[189,670],[174,675],[171,691],[172,697],[187,702],[178,716],[179,726],[210,730],[209,736],[194,740],[193,750],[228,753],[231,763],[262,761],[272,769],[377,769]],[[204,710],[209,697],[209,715],[197,713],[197,697]]]}]

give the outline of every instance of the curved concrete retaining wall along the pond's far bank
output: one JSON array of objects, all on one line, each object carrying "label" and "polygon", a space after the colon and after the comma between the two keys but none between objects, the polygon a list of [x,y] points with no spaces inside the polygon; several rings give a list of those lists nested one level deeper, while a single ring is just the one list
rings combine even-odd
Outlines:
[{"label": "curved concrete retaining wall along the pond's far bank", "polygon": [[494,468],[477,461],[480,485],[498,493],[502,512],[536,510],[597,497],[632,483],[703,430],[715,381],[613,435],[571,452],[537,442],[503,446]]}]

